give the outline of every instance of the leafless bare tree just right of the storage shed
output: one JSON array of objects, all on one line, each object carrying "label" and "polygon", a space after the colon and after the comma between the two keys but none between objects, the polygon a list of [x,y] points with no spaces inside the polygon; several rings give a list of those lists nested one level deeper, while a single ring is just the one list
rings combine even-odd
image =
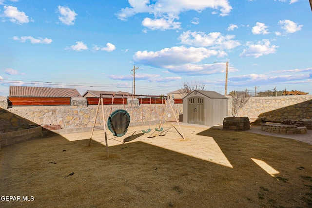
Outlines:
[{"label": "leafless bare tree just right of the storage shed", "polygon": [[232,115],[235,117],[238,111],[246,105],[250,95],[247,89],[242,92],[232,91],[230,95],[232,96]]}]

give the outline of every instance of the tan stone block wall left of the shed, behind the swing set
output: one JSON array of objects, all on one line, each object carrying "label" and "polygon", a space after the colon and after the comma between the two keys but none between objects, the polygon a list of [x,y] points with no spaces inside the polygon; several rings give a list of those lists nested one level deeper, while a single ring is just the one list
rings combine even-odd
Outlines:
[{"label": "tan stone block wall left of the shed, behind the swing set", "polygon": [[[143,104],[139,105],[138,99],[128,99],[128,104],[125,106],[126,111],[130,114],[132,125],[142,125],[142,117],[145,127],[149,125],[159,125],[163,114],[164,121],[175,121],[175,116],[178,119],[179,109],[182,104],[175,104],[174,100],[169,100],[173,106],[172,112],[169,103],[166,104],[165,112],[164,105]],[[21,130],[27,128],[29,124],[35,123],[38,125],[60,125],[62,129],[91,127],[93,126],[98,105],[89,105],[85,98],[72,98],[70,106],[16,106],[9,109],[0,108],[0,132],[7,129]],[[123,105],[113,105],[112,112],[117,109],[124,109]],[[104,115],[107,120],[111,112],[111,105],[104,105]],[[103,125],[102,109],[99,107],[96,126]]]}]

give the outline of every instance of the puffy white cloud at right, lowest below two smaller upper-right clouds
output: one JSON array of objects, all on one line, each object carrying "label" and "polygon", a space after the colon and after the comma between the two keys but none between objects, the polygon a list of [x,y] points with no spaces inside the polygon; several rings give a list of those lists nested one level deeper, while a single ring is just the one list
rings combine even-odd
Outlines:
[{"label": "puffy white cloud at right, lowest below two smaller upper-right clouds", "polygon": [[276,45],[271,45],[271,42],[268,39],[262,39],[256,44],[253,44],[252,42],[247,42],[247,46],[248,48],[244,49],[239,57],[258,58],[264,55],[274,54],[276,53],[276,48],[278,47]]}]

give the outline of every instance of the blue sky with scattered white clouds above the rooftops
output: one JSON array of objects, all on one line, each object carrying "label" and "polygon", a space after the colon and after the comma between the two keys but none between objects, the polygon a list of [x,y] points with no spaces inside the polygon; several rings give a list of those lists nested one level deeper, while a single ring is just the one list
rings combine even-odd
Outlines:
[{"label": "blue sky with scattered white clouds above the rooftops", "polygon": [[309,0],[0,0],[10,85],[162,95],[183,82],[312,94]]}]

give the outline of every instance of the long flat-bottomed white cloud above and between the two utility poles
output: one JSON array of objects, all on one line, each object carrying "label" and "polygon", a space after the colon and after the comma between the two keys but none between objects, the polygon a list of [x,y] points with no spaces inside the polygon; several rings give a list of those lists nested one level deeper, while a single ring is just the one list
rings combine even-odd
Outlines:
[{"label": "long flat-bottomed white cloud above and between the two utility poles", "polygon": [[217,56],[220,53],[215,50],[209,50],[207,48],[195,48],[195,47],[172,47],[164,48],[160,51],[137,51],[133,56],[136,63],[164,67],[167,65],[179,65],[186,63],[196,63],[207,57]]}]

